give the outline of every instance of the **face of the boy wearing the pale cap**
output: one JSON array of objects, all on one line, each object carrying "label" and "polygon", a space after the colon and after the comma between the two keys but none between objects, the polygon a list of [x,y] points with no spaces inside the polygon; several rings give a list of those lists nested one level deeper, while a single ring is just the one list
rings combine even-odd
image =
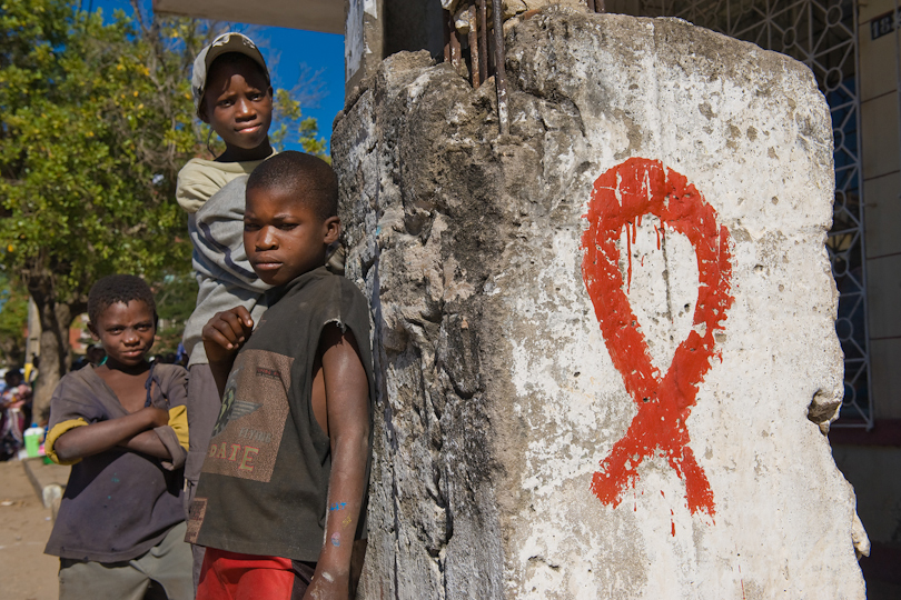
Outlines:
[{"label": "face of the boy wearing the pale cap", "polygon": [[[249,58],[216,62],[207,78],[200,118],[226,142],[228,151],[246,154],[260,150],[269,156],[269,124],[273,121],[273,88]],[[241,152],[244,151],[244,152]],[[257,160],[236,157],[236,160]]]}]

